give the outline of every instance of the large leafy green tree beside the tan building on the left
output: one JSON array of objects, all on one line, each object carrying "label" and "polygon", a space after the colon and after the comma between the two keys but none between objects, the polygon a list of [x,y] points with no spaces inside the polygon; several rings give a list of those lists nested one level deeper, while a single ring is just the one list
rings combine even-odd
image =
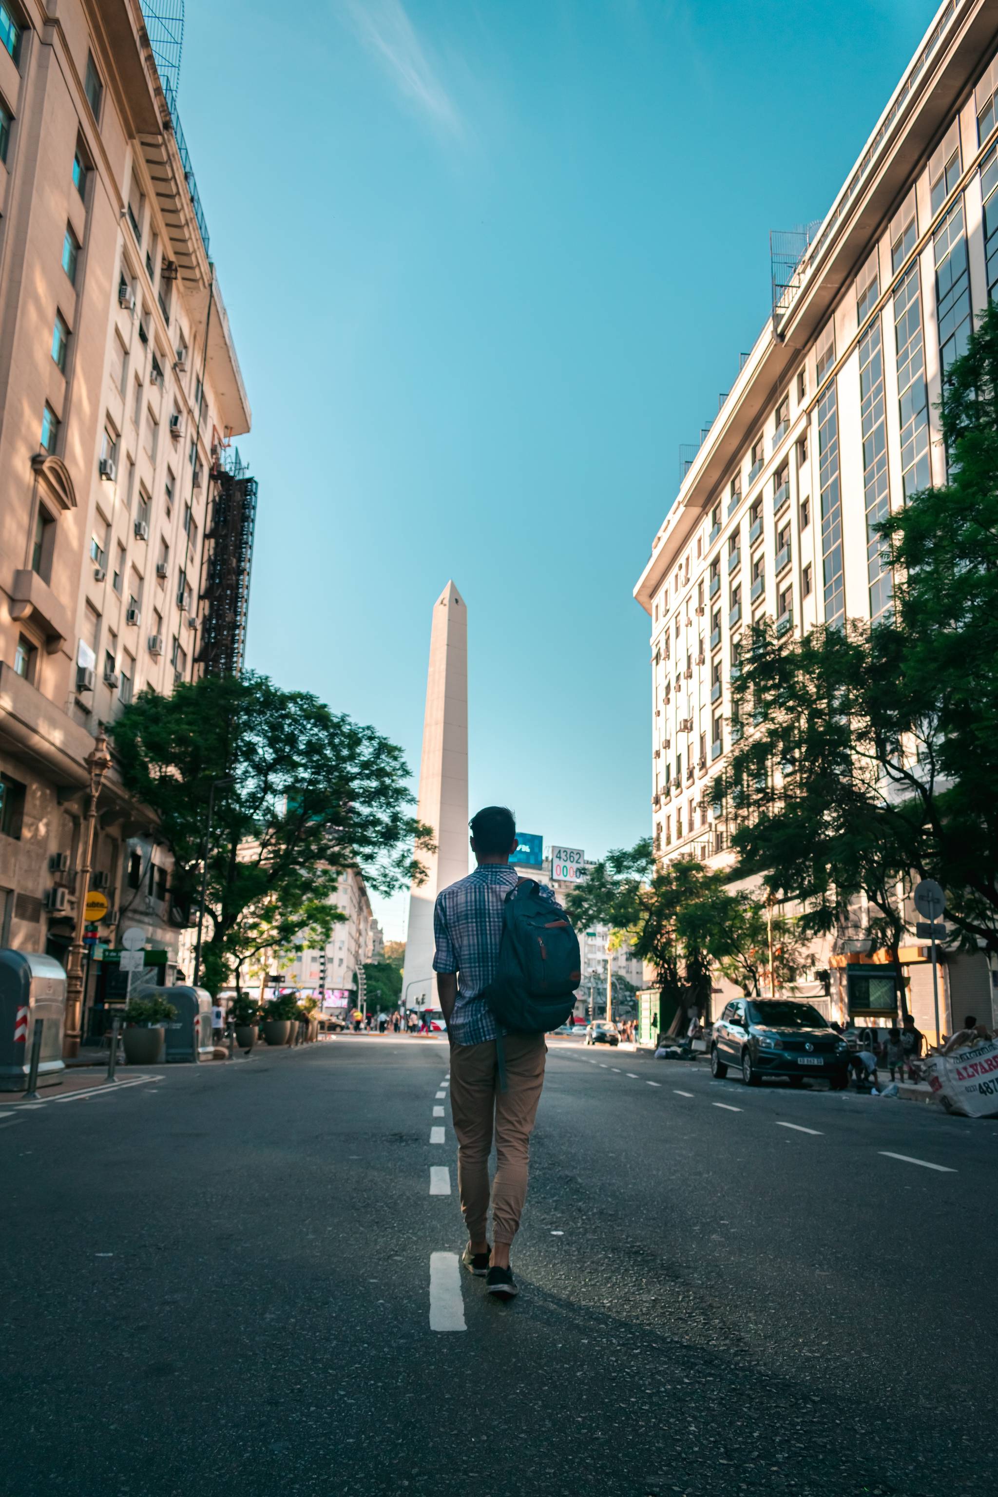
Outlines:
[{"label": "large leafy green tree beside the tan building on the left", "polygon": [[174,853],[172,898],[195,916],[206,808],[202,981],[217,993],[263,951],[325,946],[347,868],[391,892],[422,867],[401,750],[307,692],[205,677],[142,692],[111,726],[121,775]]}]

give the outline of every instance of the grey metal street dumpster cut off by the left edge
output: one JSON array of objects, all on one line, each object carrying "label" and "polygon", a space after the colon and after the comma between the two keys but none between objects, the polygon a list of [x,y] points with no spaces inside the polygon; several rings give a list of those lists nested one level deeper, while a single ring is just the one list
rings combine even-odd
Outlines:
[{"label": "grey metal street dumpster cut off by the left edge", "polygon": [[54,957],[0,948],[0,1091],[27,1091],[34,1021],[42,1019],[39,1087],[66,1070],[66,973]]}]

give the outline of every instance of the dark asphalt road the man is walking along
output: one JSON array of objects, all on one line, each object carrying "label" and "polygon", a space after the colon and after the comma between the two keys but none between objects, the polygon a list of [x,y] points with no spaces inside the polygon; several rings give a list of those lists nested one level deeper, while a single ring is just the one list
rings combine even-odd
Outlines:
[{"label": "dark asphalt road the man is walking along", "polygon": [[998,1123],[554,1042],[504,1305],[434,1257],[446,1072],[344,1037],[4,1111],[0,1491],[994,1490]]}]

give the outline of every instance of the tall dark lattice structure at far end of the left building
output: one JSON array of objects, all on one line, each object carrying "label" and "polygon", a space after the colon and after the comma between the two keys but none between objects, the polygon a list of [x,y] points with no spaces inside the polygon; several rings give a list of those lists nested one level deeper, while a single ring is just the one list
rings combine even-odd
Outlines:
[{"label": "tall dark lattice structure at far end of the left building", "polygon": [[250,572],[256,528],[256,479],[224,449],[212,472],[214,497],[200,573],[200,647],[205,675],[241,675],[250,611]]}]

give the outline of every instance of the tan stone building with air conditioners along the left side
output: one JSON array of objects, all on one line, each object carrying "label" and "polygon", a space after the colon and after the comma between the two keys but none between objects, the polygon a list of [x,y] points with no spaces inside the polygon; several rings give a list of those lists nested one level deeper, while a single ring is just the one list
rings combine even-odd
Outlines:
[{"label": "tan stone building with air conditioners along the left side", "polygon": [[[215,475],[250,427],[166,90],[138,0],[1,0],[0,943],[57,957],[84,760],[202,669]],[[114,771],[99,810],[99,939],[139,924],[175,960],[150,816]]]}]

